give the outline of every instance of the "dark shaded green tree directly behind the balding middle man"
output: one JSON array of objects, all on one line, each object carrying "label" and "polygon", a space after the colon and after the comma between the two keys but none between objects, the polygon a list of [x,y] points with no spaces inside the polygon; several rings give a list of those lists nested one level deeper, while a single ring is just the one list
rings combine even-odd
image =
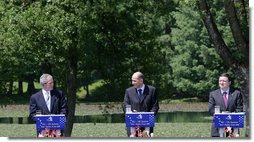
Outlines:
[{"label": "dark shaded green tree directly behind the balding middle man", "polygon": [[[131,74],[137,70],[145,73],[148,82],[163,84],[161,76],[167,72],[163,42],[168,39],[161,34],[172,10],[166,5],[164,1],[91,2],[87,22],[93,31],[90,39],[95,39],[90,45],[96,48],[86,51],[94,53],[88,57],[96,62],[98,75],[106,81],[107,89],[100,92],[103,99],[121,101]],[[167,90],[166,84],[161,86]]]}]

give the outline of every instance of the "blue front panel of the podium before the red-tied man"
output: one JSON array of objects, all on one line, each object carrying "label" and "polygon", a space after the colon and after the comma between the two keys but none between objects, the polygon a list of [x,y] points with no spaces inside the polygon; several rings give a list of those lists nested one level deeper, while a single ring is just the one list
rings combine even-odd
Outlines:
[{"label": "blue front panel of the podium before the red-tied man", "polygon": [[243,128],[245,113],[218,113],[214,114],[216,128]]}]

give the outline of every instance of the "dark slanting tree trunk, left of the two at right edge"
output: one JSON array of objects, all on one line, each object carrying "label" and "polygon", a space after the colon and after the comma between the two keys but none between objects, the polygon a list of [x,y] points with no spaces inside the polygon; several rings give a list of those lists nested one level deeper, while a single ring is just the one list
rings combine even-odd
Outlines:
[{"label": "dark slanting tree trunk, left of the two at right edge", "polygon": [[[250,132],[249,130],[250,129],[250,126],[249,126],[249,111],[250,111],[249,109],[249,64],[248,64],[249,62],[245,62],[245,64],[239,64],[236,60],[233,59],[232,54],[230,53],[230,50],[226,46],[221,34],[219,33],[217,25],[213,20],[213,16],[209,10],[206,0],[197,0],[197,4],[201,11],[202,20],[206,26],[206,29],[208,31],[208,34],[210,36],[212,43],[214,44],[216,51],[218,52],[218,54],[220,55],[224,63],[228,67],[232,68],[233,72],[235,73],[235,76],[237,77],[238,82],[240,83],[240,89],[243,95],[244,111],[246,113],[245,136],[249,137],[249,132]],[[232,6],[232,4],[230,6]],[[234,18],[233,16],[234,14],[231,14],[231,18],[229,17],[229,19],[231,19],[230,23],[233,22],[232,19],[237,20],[237,18]],[[232,25],[232,26],[234,26],[234,27],[231,27],[232,32],[240,32],[237,27],[238,25]],[[242,36],[239,33],[232,33],[232,34],[235,37]],[[239,51],[242,52],[243,55],[246,55],[246,51],[249,51],[246,48],[249,48],[249,46],[247,46],[247,43],[241,43],[241,42],[245,42],[245,40],[241,38],[235,41]],[[246,56],[245,58],[248,59]]]}]

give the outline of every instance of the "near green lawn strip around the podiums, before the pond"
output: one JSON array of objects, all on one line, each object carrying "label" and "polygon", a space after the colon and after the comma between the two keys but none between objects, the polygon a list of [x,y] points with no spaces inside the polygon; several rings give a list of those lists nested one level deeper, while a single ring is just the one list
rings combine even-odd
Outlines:
[{"label": "near green lawn strip around the podiums, before the pond", "polygon": [[[210,138],[210,123],[156,123],[155,138]],[[0,124],[1,137],[35,138],[34,124]],[[241,129],[240,137],[244,137]],[[125,123],[75,123],[72,137],[126,138]]]}]

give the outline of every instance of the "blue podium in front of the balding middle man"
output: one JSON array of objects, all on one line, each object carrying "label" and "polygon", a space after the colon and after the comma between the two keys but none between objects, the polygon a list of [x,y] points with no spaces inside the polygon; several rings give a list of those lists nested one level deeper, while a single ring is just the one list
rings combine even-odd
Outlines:
[{"label": "blue podium in front of the balding middle man", "polygon": [[[125,122],[126,127],[130,127],[130,137],[134,137],[138,127],[145,127],[144,131],[149,136],[150,127],[154,127],[154,112],[126,112]],[[153,134],[150,137],[153,137]]]}]

